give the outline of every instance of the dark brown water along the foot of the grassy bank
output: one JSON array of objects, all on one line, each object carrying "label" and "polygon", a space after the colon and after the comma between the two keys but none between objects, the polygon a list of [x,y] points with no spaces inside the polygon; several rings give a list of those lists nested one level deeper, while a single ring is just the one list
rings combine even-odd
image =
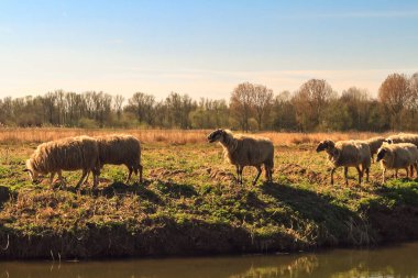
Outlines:
[{"label": "dark brown water along the foot of the grassy bank", "polygon": [[0,278],[418,277],[418,242],[290,255],[0,263]]}]

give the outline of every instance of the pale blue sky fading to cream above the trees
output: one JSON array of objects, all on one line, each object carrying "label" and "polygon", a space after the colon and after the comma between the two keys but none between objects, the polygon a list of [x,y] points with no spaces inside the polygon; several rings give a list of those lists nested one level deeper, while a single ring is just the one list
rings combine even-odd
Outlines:
[{"label": "pale blue sky fading to cream above the trees", "polygon": [[0,97],[63,89],[228,99],[310,78],[376,94],[418,71],[418,1],[0,0]]}]

